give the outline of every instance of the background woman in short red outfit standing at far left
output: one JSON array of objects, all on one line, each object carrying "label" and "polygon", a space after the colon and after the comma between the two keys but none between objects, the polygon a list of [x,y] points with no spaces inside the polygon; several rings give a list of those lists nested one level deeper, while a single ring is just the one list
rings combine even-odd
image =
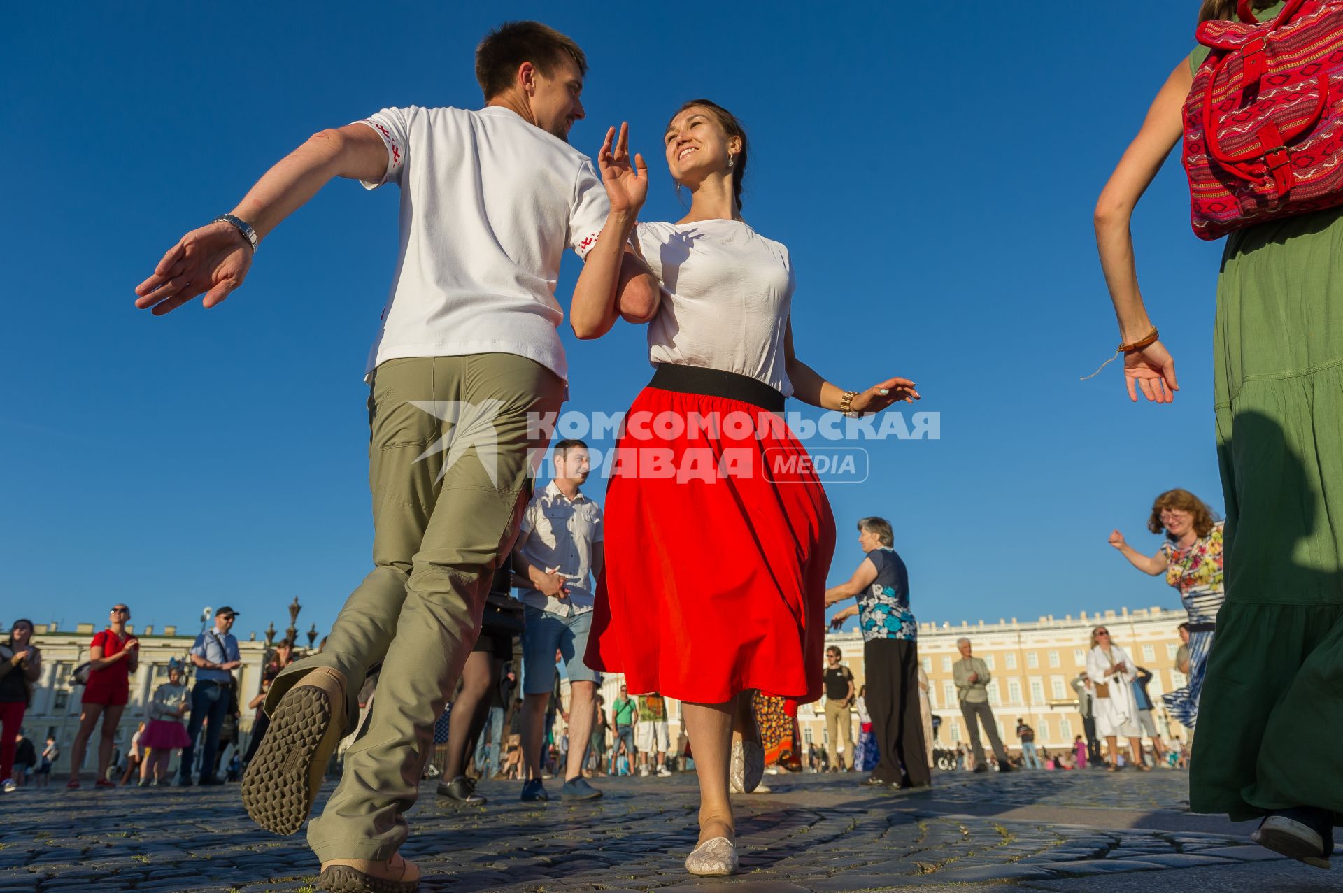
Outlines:
[{"label": "background woman in short red outfit standing at far left", "polygon": [[121,712],[130,700],[130,674],[136,671],[140,659],[140,639],[126,632],[130,608],[125,604],[113,606],[109,611],[107,628],[93,637],[89,645],[89,684],[85,685],[82,709],[79,710],[79,732],[70,747],[70,782],[66,787],[79,787],[79,764],[83,763],[85,748],[93,736],[98,718],[102,718],[102,737],[98,739],[98,775],[95,787],[117,787],[107,780],[107,763],[117,740],[117,724]]}]

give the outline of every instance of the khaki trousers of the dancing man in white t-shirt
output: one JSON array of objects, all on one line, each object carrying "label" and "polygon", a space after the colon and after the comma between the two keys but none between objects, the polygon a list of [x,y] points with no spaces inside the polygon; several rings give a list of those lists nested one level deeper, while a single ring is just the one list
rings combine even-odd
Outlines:
[{"label": "khaki trousers of the dancing man in white t-shirt", "polygon": [[321,654],[271,685],[274,710],[313,667],[345,674],[346,733],[357,694],[383,662],[364,733],[308,842],[324,862],[389,858],[406,841],[434,720],[475,643],[500,556],[525,508],[530,462],[564,381],[510,353],[388,360],[371,381],[373,571],[345,602]]}]

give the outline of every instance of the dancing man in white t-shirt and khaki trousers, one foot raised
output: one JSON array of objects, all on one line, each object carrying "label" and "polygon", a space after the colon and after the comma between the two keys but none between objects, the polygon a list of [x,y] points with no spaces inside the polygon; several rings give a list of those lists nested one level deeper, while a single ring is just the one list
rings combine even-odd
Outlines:
[{"label": "dancing man in white t-shirt and khaki trousers, one foot raised", "polygon": [[[357,725],[367,671],[383,662],[368,733],[309,826],[322,889],[419,884],[398,855],[404,814],[516,536],[529,459],[547,446],[529,416],[564,400],[560,258],[565,246],[586,255],[607,216],[591,161],[567,142],[586,71],[569,38],[505,24],[477,48],[483,109],[384,109],[317,133],[136,289],[156,316],[199,294],[212,308],[242,285],[258,243],[332,177],[402,191],[400,254],[367,365],[375,567],[326,649],[275,678],[271,726],[243,779],[258,823],[297,831]],[[620,309],[638,318],[655,282],[637,261],[618,266]]]}]

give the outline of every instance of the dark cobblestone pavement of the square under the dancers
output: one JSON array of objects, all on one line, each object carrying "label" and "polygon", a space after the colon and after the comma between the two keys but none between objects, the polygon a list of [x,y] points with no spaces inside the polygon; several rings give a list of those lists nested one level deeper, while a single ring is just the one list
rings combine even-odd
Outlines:
[{"label": "dark cobblestone pavement of the square under the dancers", "polygon": [[[461,893],[1343,889],[1343,869],[1283,859],[1250,845],[1249,826],[1190,815],[1183,772],[939,773],[915,795],[857,778],[766,776],[772,794],[737,798],[741,874],[727,880],[682,867],[690,776],[599,779],[603,799],[547,806],[492,782],[479,787],[490,803],[473,808],[426,783],[404,853],[422,889]],[[293,893],[316,881],[302,835],[257,829],[236,786],[26,788],[0,798],[0,893]]]}]

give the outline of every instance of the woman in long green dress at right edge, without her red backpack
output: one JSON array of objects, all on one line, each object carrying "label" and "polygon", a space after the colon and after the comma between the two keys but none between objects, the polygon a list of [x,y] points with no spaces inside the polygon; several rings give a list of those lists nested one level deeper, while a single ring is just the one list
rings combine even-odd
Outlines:
[{"label": "woman in long green dress at right edge, without her red backpack", "polygon": [[[1203,0],[1201,19],[1234,19]],[[1283,3],[1254,0],[1260,20]],[[1154,326],[1129,219],[1183,132],[1206,50],[1175,67],[1096,207],[1124,345]],[[1343,208],[1233,232],[1217,283],[1214,411],[1226,500],[1226,603],[1198,713],[1190,807],[1262,818],[1254,839],[1328,867],[1343,816]],[[1129,399],[1170,403],[1160,341],[1124,355]]]}]

